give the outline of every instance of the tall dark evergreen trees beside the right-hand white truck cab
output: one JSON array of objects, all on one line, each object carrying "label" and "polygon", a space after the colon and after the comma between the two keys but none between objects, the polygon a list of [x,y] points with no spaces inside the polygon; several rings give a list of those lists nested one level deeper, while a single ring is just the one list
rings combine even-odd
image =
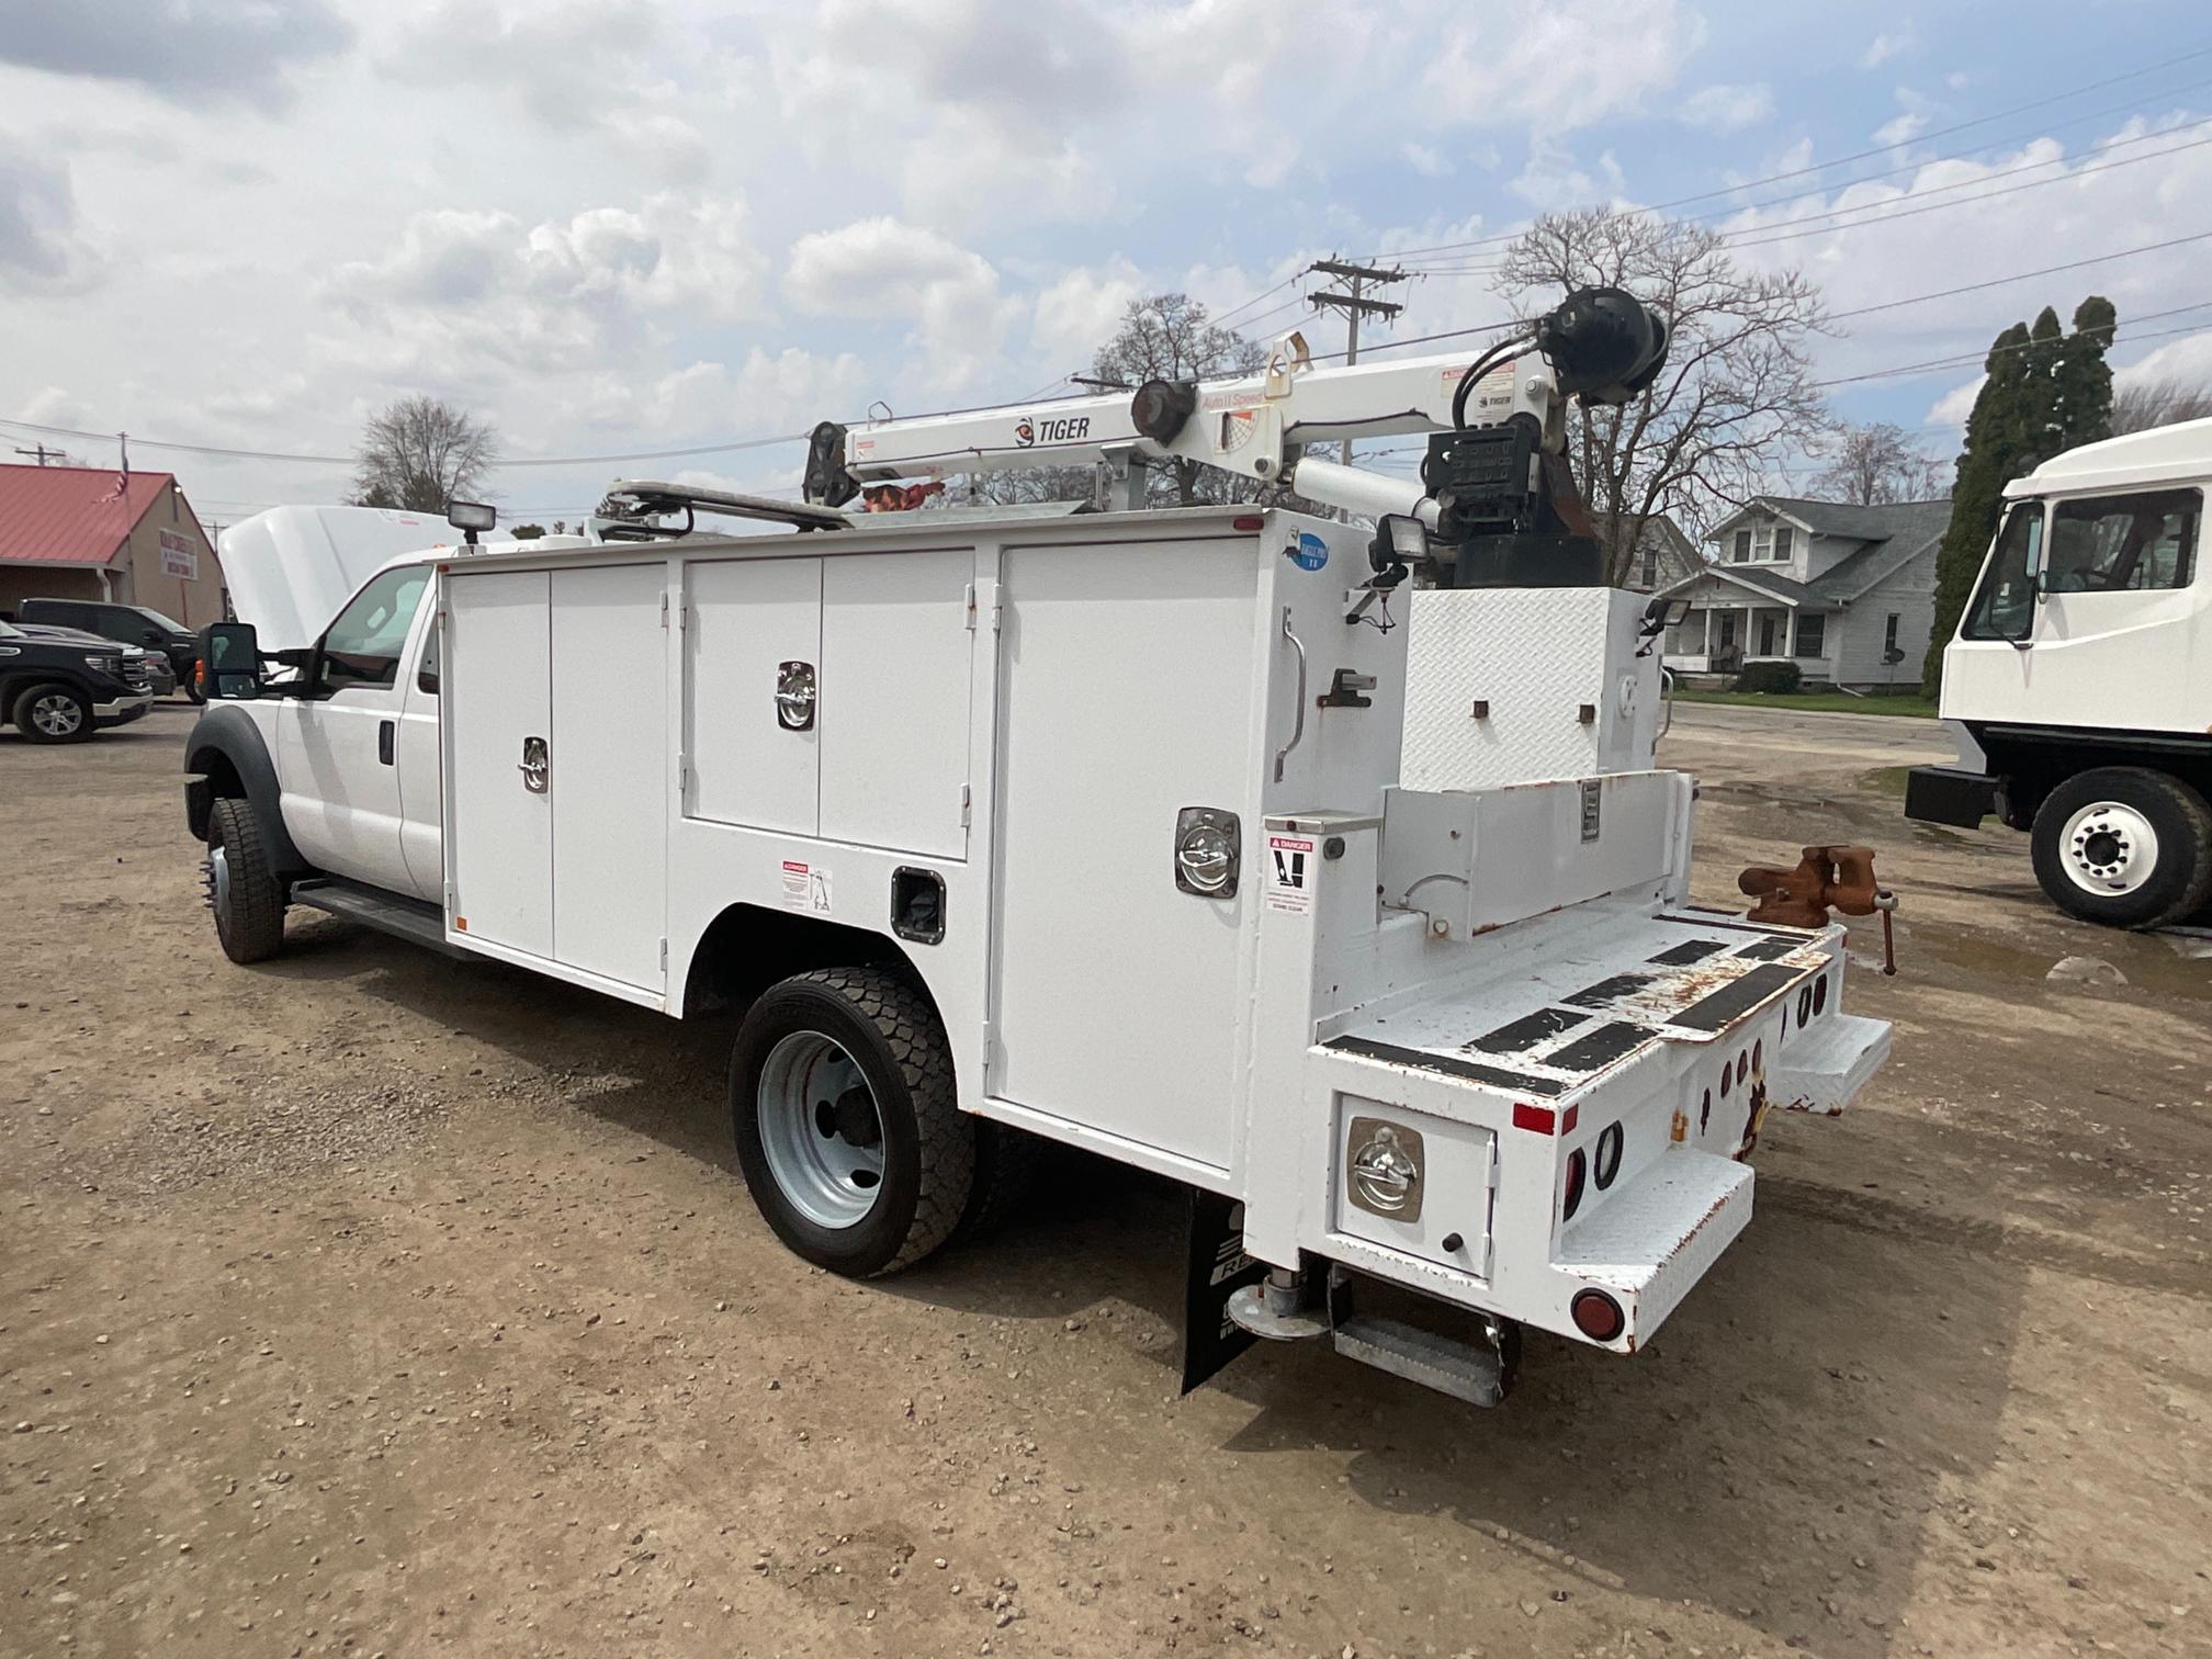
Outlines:
[{"label": "tall dark evergreen trees beside the right-hand white truck cab", "polygon": [[1958,633],[1973,577],[1997,533],[2004,487],[2059,451],[2110,434],[2112,369],[2104,354],[2117,325],[2112,301],[2090,294],[2075,307],[2073,334],[2046,305],[2035,327],[2013,323],[1989,347],[1989,378],[1966,416],[1966,447],[1951,489],[1951,529],[1936,553],[1936,630],[1920,670],[1929,697],[1942,688],[1942,650]]}]

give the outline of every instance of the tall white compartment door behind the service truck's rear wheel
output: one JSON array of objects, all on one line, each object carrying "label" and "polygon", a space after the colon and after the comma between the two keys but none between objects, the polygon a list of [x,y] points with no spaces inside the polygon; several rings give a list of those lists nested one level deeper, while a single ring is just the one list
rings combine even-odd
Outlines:
[{"label": "tall white compartment door behind the service truck's rear wheel", "polygon": [[[1002,568],[991,1093],[1225,1170],[1265,845],[1252,542]],[[1177,887],[1183,807],[1245,814],[1234,896]]]}]

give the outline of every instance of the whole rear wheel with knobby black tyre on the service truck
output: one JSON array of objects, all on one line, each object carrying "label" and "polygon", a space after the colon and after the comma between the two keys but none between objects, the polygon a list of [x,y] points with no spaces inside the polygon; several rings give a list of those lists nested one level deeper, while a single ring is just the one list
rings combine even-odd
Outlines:
[{"label": "whole rear wheel with knobby black tyre on the service truck", "polygon": [[770,987],[737,1031],[730,1119],[768,1225],[830,1272],[911,1267],[960,1225],[975,1183],[945,1026],[880,969]]}]

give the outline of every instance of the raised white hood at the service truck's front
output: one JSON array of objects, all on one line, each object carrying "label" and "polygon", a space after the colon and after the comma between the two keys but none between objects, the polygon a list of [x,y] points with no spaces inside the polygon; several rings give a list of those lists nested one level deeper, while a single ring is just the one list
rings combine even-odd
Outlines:
[{"label": "raised white hood at the service truck's front", "polygon": [[230,608],[263,650],[312,646],[338,608],[400,553],[460,535],[429,513],[383,507],[272,507],[223,531],[217,551]]}]

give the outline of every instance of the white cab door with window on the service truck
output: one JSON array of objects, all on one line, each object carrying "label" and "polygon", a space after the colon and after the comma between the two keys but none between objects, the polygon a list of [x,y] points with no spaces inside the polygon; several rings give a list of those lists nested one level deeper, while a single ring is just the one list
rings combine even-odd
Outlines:
[{"label": "white cab door with window on the service truck", "polygon": [[425,613],[427,564],[383,571],[323,630],[307,697],[276,708],[285,830],[332,876],[411,894],[400,852],[400,661]]}]

